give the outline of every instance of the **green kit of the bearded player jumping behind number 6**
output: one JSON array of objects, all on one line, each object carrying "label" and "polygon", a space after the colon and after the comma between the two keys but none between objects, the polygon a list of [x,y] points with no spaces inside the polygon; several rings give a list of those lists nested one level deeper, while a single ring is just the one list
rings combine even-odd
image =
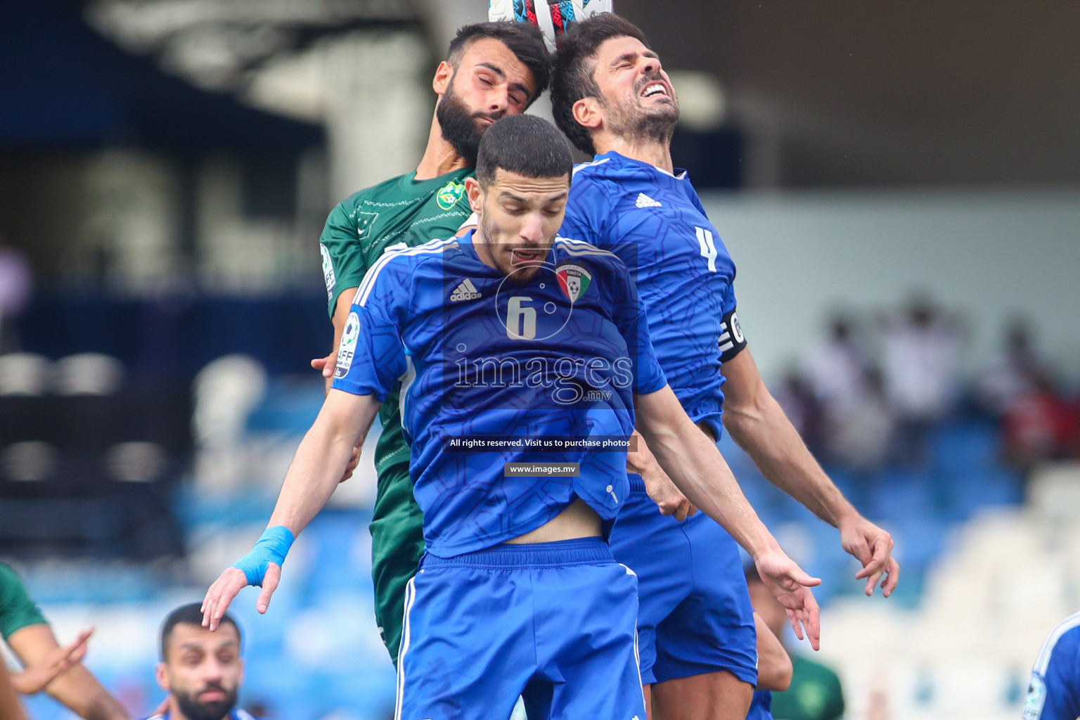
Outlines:
[{"label": "green kit of the bearded player jumping behind number 6", "polygon": [[[409,173],[361,190],[335,207],[319,240],[330,316],[341,293],[359,287],[387,248],[453,236],[472,215],[464,192],[464,180],[472,176],[472,168],[430,180],[417,180],[416,173]],[[382,434],[375,447],[379,480],[370,525],[375,620],[395,664],[405,586],[423,554],[423,515],[413,498],[400,390],[401,383],[379,410]]]}]

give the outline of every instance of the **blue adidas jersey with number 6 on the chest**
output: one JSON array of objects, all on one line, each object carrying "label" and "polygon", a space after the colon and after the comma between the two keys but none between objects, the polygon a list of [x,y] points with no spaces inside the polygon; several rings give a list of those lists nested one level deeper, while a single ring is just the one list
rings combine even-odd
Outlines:
[{"label": "blue adidas jersey with number 6 on the chest", "polygon": [[[528,281],[484,263],[472,233],[388,252],[356,293],[334,388],[386,399],[397,378],[429,553],[523,535],[575,497],[611,520],[629,493],[624,450],[529,440],[626,438],[633,396],[666,380],[625,264],[556,239]],[[518,445],[484,450],[469,439]],[[578,462],[579,477],[504,477],[505,462]]]}]

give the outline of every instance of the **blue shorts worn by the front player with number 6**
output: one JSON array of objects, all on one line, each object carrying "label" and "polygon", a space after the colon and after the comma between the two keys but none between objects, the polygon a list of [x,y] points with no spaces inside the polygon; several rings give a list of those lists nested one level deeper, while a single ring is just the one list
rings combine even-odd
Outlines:
[{"label": "blue shorts worn by the front player with number 6", "polygon": [[405,593],[401,720],[645,718],[637,580],[598,538],[427,555]]}]

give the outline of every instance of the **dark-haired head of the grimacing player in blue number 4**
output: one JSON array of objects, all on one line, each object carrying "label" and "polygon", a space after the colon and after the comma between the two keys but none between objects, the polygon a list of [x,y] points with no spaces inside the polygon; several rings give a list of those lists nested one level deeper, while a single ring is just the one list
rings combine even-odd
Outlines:
[{"label": "dark-haired head of the grimacing player in blue number 4", "polygon": [[618,15],[577,23],[555,56],[552,113],[582,152],[611,140],[667,144],[678,98],[645,33]]}]

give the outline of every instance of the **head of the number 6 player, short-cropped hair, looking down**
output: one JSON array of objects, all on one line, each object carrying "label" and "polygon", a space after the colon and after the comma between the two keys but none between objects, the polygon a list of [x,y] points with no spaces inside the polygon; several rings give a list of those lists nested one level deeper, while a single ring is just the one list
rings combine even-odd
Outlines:
[{"label": "head of the number 6 player, short-cropped hair, looking down", "polygon": [[536,116],[503,118],[480,144],[465,180],[480,216],[476,255],[515,281],[543,264],[566,215],[573,160],[555,126]]}]

